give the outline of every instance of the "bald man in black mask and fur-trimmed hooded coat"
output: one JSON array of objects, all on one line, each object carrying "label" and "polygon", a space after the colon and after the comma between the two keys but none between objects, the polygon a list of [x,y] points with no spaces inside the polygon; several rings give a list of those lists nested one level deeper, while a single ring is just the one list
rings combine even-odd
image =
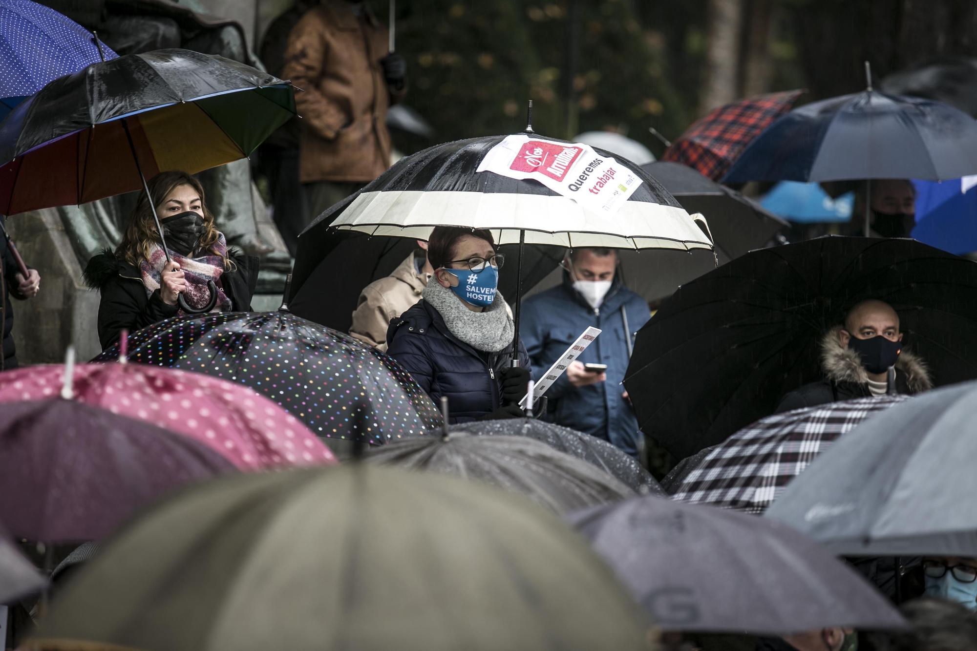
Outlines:
[{"label": "bald man in black mask and fur-trimmed hooded coat", "polygon": [[821,341],[824,378],[791,391],[777,412],[884,394],[912,395],[933,386],[925,364],[903,348],[899,315],[888,303],[862,301]]}]

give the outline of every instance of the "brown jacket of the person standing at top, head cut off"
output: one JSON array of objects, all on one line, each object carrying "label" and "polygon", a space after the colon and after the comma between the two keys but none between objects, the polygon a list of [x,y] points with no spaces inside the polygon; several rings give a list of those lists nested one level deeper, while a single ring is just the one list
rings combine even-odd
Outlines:
[{"label": "brown jacket of the person standing at top, head cut off", "polygon": [[281,74],[302,89],[303,183],[367,183],[387,169],[387,109],[403,95],[383,78],[387,45],[387,28],[365,6],[358,18],[347,0],[323,0],[292,29]]}]

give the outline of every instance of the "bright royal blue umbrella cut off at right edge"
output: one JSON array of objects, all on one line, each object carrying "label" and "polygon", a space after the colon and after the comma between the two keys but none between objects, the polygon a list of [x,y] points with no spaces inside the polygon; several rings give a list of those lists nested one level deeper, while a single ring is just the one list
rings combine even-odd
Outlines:
[{"label": "bright royal blue umbrella cut off at right edge", "polygon": [[943,183],[913,181],[916,225],[913,239],[950,253],[977,251],[977,177]]}]

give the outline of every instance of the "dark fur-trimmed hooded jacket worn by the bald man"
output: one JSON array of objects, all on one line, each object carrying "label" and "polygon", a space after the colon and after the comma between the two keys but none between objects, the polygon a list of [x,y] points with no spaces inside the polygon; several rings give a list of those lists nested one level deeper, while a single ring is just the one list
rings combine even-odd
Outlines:
[{"label": "dark fur-trimmed hooded jacket worn by the bald man", "polygon": [[[821,340],[821,369],[825,377],[786,394],[775,413],[871,396],[869,372],[858,353],[841,345],[840,330],[841,326],[835,325]],[[925,363],[912,351],[903,349],[895,370],[895,379],[889,381],[890,394],[914,395],[933,388]]]}]

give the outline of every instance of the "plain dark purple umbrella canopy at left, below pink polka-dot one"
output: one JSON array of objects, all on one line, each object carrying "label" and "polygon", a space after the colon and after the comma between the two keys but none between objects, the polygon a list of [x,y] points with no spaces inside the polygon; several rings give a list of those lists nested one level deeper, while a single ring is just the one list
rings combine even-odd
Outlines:
[{"label": "plain dark purple umbrella canopy at left, below pink polka-dot one", "polygon": [[233,471],[202,443],[71,400],[0,410],[0,521],[18,538],[99,540],[168,491]]}]

